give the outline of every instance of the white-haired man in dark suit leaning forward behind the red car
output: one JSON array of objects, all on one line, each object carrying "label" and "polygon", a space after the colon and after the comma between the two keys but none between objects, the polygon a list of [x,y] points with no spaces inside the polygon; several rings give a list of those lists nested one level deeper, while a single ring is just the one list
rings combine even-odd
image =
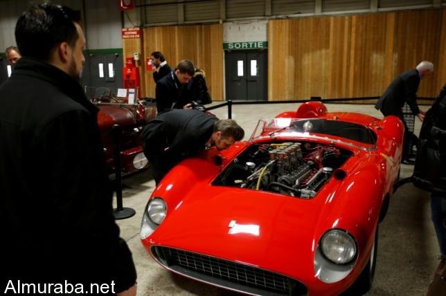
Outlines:
[{"label": "white-haired man in dark suit leaning forward behind the red car", "polygon": [[409,104],[413,115],[416,115],[420,121],[425,118],[425,111],[420,111],[416,102],[416,92],[420,81],[431,75],[434,71],[434,64],[423,61],[416,68],[405,71],[396,77],[387,87],[386,91],[377,101],[375,108],[380,110],[384,116],[396,115],[404,124],[404,142],[402,151],[402,163],[413,164],[409,160],[409,143],[416,144],[418,138],[407,129],[407,122],[404,120],[402,107],[404,103]]}]

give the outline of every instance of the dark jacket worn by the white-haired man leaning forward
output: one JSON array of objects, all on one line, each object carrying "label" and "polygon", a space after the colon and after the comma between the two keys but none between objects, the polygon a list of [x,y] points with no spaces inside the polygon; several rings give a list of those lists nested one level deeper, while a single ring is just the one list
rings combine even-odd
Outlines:
[{"label": "dark jacket worn by the white-haired man leaning forward", "polygon": [[406,71],[396,77],[377,101],[375,108],[384,115],[397,115],[402,118],[404,102],[409,104],[413,115],[418,115],[420,109],[416,102],[416,92],[420,85],[420,75],[416,69]]}]

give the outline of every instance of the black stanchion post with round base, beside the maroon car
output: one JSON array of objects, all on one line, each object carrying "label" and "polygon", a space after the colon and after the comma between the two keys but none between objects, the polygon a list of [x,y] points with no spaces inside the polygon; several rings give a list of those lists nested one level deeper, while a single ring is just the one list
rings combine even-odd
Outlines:
[{"label": "black stanchion post with round base, beside the maroon car", "polygon": [[127,219],[136,214],[130,207],[123,207],[123,180],[121,176],[121,127],[114,124],[111,129],[114,146],[114,174],[116,186],[116,209],[113,210],[114,219]]}]

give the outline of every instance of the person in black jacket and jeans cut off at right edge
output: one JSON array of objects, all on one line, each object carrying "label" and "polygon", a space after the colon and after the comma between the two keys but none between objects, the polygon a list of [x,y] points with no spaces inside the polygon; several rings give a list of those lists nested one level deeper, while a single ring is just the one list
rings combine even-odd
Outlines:
[{"label": "person in black jacket and jeans cut off at right edge", "polygon": [[446,259],[446,84],[422,123],[412,181],[432,192],[432,222]]}]

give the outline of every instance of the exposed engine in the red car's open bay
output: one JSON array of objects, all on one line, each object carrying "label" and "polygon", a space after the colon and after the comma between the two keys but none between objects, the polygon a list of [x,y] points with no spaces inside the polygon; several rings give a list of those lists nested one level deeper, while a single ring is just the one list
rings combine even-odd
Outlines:
[{"label": "exposed engine in the red car's open bay", "polygon": [[312,198],[351,151],[314,142],[270,142],[248,147],[226,167],[213,185],[263,190]]}]

